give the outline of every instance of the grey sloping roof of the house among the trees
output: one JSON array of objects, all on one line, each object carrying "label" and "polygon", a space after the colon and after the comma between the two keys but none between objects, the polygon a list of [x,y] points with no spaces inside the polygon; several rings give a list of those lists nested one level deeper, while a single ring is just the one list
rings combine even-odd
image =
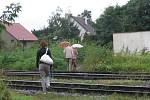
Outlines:
[{"label": "grey sloping roof of the house among the trees", "polygon": [[90,24],[86,24],[85,20],[81,17],[71,16],[75,21],[77,21],[87,32],[90,32],[90,35],[95,35],[96,32]]}]

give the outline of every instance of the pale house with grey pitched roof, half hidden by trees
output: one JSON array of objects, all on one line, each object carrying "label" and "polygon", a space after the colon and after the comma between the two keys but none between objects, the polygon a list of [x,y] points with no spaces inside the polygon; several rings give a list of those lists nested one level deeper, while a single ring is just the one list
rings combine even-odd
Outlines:
[{"label": "pale house with grey pitched roof, half hidden by trees", "polygon": [[81,38],[81,41],[83,40],[85,34],[88,36],[93,36],[96,35],[96,32],[94,28],[88,23],[88,18],[82,18],[82,17],[75,17],[72,16],[71,14],[66,14],[65,15],[66,19],[69,19],[70,22],[74,23],[74,26],[77,26],[80,33],[79,37]]}]

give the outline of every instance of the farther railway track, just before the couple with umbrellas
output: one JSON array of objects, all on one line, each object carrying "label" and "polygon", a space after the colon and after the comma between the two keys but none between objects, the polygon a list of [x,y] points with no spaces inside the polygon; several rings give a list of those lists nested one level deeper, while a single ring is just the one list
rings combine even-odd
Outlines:
[{"label": "farther railway track, just before the couple with umbrellas", "polygon": [[[6,71],[5,76],[19,76],[19,77],[35,77],[39,76],[39,72],[33,71]],[[74,79],[130,79],[130,80],[150,80],[148,73],[98,73],[98,72],[53,72],[54,78],[74,78]]]}]

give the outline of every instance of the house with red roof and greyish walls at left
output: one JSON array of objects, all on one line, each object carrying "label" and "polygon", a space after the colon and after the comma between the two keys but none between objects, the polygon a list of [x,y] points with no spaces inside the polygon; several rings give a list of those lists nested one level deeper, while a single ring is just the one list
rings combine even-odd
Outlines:
[{"label": "house with red roof and greyish walls at left", "polygon": [[5,48],[12,48],[19,44],[23,47],[31,47],[32,43],[38,40],[34,34],[19,23],[5,25],[5,30],[0,35],[3,41],[3,47]]}]

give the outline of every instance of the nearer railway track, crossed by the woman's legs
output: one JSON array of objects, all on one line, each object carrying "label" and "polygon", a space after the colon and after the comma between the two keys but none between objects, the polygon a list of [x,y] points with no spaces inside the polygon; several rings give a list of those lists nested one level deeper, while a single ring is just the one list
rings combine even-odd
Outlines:
[{"label": "nearer railway track, crossed by the woman's legs", "polygon": [[[24,90],[41,90],[40,81],[25,81],[25,80],[5,80],[10,88]],[[126,85],[104,85],[104,84],[84,84],[84,83],[64,83],[51,82],[49,91],[57,92],[78,92],[84,94],[139,94],[149,95],[150,87],[148,86],[126,86]]]}]

